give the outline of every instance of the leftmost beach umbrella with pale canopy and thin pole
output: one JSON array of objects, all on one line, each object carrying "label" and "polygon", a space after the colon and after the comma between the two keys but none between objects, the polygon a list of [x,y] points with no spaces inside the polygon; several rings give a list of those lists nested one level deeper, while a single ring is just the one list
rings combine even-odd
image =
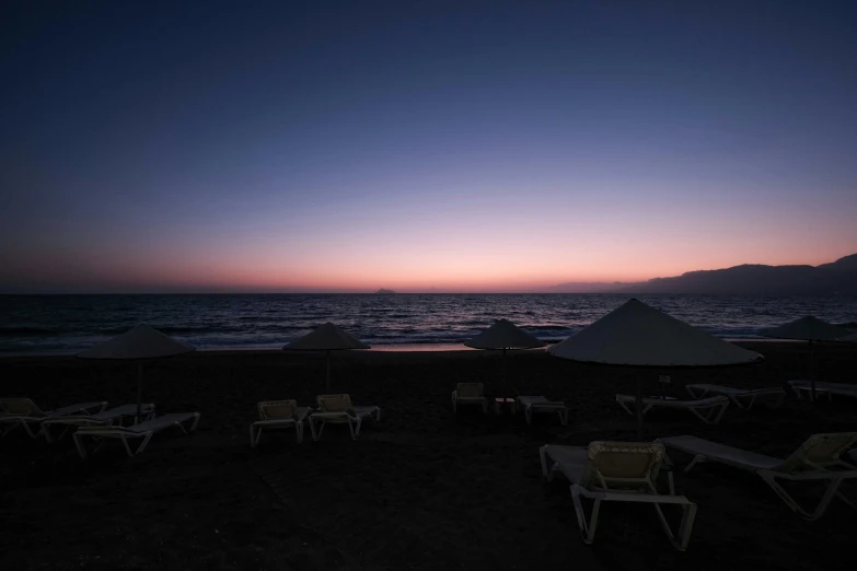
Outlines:
[{"label": "leftmost beach umbrella with pale canopy and thin pole", "polygon": [[78,353],[81,359],[117,359],[137,361],[137,419],[142,407],[143,375],[142,364],[146,359],[172,357],[194,351],[195,349],[176,341],[158,329],[148,325],[138,325],[124,334],[101,345],[91,347]]}]

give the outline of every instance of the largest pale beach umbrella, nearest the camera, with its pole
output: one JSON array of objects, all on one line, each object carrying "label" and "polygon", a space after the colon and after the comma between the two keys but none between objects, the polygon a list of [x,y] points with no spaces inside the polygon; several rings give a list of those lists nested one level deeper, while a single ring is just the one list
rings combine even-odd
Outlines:
[{"label": "largest pale beach umbrella, nearest the camera, with its pole", "polygon": [[637,376],[637,432],[642,428],[641,375],[646,369],[722,366],[761,361],[748,351],[633,299],[547,349],[581,363],[628,366]]}]

